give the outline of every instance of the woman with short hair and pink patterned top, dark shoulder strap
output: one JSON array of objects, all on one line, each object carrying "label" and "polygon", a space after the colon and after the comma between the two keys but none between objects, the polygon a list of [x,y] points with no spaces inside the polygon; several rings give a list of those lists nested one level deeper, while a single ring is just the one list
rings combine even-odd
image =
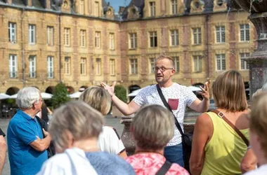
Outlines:
[{"label": "woman with short hair and pink patterned top, dark shoulder strap", "polygon": [[189,175],[180,165],[164,158],[164,147],[174,137],[174,116],[163,106],[152,104],[141,108],[131,123],[136,153],[126,159],[137,175]]}]

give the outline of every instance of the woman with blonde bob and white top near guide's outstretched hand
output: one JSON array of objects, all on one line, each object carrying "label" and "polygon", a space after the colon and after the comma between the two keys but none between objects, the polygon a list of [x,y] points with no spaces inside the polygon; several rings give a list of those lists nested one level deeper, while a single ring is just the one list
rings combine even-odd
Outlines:
[{"label": "woman with blonde bob and white top near guide's outstretched hand", "polygon": [[[111,98],[110,94],[102,87],[93,86],[89,87],[79,97],[79,100],[86,102],[93,109],[96,109],[103,116],[107,115],[110,111]],[[108,153],[115,153],[122,158],[126,158],[126,151],[122,140],[119,137],[116,129],[103,125],[103,132],[101,132],[98,139],[98,146],[101,151]]]}]

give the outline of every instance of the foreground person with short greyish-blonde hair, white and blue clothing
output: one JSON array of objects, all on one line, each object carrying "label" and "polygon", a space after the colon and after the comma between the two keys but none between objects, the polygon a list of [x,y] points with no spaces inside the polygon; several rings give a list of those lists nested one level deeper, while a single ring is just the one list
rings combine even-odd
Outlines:
[{"label": "foreground person with short greyish-blonde hair, white and blue clothing", "polygon": [[44,162],[38,174],[133,175],[125,160],[99,150],[102,128],[103,116],[88,104],[72,101],[60,106],[48,128],[58,154]]}]

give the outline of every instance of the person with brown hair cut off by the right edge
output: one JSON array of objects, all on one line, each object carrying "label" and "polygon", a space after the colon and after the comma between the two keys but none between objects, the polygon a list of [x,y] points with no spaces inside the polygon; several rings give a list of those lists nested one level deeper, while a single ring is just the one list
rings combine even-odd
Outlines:
[{"label": "person with brown hair cut off by the right edge", "polygon": [[250,141],[259,168],[246,175],[266,174],[267,172],[267,92],[256,94],[252,100],[249,118]]}]

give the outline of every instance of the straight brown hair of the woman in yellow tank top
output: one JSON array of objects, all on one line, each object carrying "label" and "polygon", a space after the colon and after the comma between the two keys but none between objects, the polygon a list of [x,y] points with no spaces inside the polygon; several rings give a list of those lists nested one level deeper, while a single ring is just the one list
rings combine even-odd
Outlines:
[{"label": "straight brown hair of the woman in yellow tank top", "polygon": [[220,109],[236,112],[247,109],[244,80],[238,71],[221,73],[212,85],[214,102]]}]

